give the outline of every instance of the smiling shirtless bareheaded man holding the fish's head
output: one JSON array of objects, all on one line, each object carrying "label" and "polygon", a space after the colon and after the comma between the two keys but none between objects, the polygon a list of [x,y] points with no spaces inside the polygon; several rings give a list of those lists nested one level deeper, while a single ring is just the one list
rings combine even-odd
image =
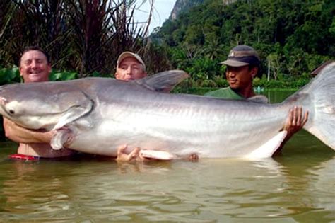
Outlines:
[{"label": "smiling shirtless bareheaded man holding the fish's head", "polygon": [[[51,64],[47,53],[40,47],[25,48],[20,57],[19,70],[25,84],[49,81]],[[74,153],[70,149],[58,151],[52,149],[49,142],[53,132],[28,130],[6,118],[4,118],[4,130],[6,137],[19,143],[18,154],[11,155],[12,159],[55,158]]]}]

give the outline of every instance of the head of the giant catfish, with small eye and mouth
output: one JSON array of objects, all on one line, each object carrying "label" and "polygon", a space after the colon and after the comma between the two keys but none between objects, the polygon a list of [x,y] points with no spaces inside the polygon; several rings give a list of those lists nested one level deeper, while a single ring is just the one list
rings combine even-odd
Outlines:
[{"label": "head of the giant catfish, with small eye and mouth", "polygon": [[90,110],[89,103],[80,90],[56,82],[8,84],[0,88],[1,115],[33,130],[62,127],[83,115],[83,110]]}]

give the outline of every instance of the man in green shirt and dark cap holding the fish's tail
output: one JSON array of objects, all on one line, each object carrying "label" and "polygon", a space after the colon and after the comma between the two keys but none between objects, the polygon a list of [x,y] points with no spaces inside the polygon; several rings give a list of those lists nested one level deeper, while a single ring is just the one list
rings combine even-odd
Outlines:
[{"label": "man in green shirt and dark cap holding the fish's tail", "polygon": [[[229,86],[216,91],[210,91],[206,93],[205,96],[237,100],[257,96],[254,93],[252,80],[259,73],[260,59],[254,48],[247,45],[237,45],[230,50],[228,58],[221,62],[221,64],[227,67],[225,76]],[[265,96],[257,96],[257,98],[260,98],[260,101],[263,102],[267,101]],[[307,119],[308,112],[302,113],[302,107],[295,106],[290,109],[286,124],[283,126],[283,130],[286,130],[288,134],[278,151],[282,149],[283,144],[285,144],[295,132],[302,129]]]}]

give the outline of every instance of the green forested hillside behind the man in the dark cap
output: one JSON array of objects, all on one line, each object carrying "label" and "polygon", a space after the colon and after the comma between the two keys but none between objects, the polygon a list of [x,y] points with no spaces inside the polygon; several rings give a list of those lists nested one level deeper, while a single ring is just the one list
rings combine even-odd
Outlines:
[{"label": "green forested hillside behind the man in the dark cap", "polygon": [[222,74],[218,62],[235,45],[247,44],[259,52],[262,73],[270,65],[276,80],[257,80],[262,86],[295,88],[308,81],[304,74],[335,58],[334,14],[331,0],[208,0],[165,22],[153,40],[166,44],[172,67],[187,70],[197,86],[213,85],[208,80]]}]

